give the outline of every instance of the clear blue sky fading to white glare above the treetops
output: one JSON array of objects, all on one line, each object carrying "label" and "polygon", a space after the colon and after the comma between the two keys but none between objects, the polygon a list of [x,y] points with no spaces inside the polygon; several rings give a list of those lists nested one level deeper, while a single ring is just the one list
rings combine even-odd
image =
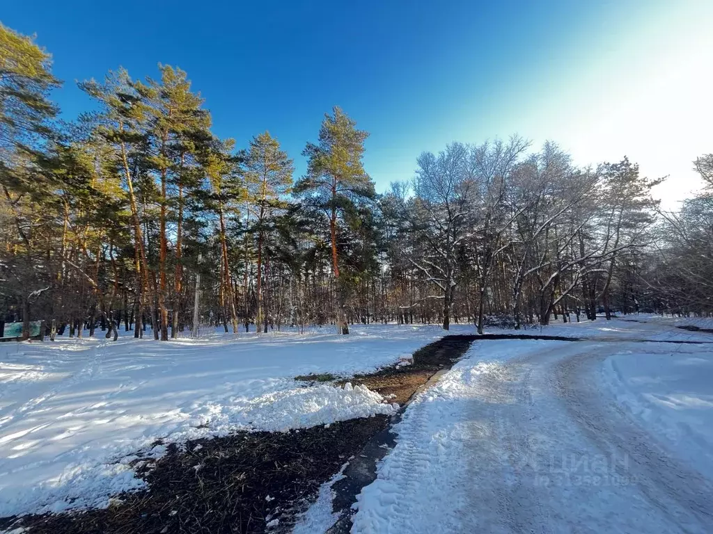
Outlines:
[{"label": "clear blue sky fading to white glare above the treetops", "polygon": [[90,103],[75,80],[158,62],[188,72],[214,131],[239,146],[264,130],[294,157],[340,105],[368,130],[365,164],[384,190],[447,142],[517,132],[559,142],[578,164],[628,155],[673,206],[713,152],[708,0],[24,1],[0,20],[36,34],[65,80],[68,117]]}]

